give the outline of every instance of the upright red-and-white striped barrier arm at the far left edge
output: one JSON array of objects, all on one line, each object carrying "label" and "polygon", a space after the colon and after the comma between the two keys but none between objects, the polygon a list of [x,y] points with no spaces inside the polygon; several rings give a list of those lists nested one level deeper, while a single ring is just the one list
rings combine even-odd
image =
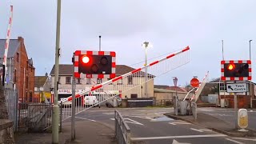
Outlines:
[{"label": "upright red-and-white striped barrier arm at the far left edge", "polygon": [[[8,48],[9,48],[9,42],[10,42],[10,28],[11,28],[12,22],[13,22],[13,6],[10,6],[10,18],[9,18],[7,34],[6,34],[5,54],[3,55],[3,62],[2,62],[2,64],[5,65],[5,67],[7,65],[7,54],[8,54]],[[6,71],[7,71],[7,67],[6,67]]]}]

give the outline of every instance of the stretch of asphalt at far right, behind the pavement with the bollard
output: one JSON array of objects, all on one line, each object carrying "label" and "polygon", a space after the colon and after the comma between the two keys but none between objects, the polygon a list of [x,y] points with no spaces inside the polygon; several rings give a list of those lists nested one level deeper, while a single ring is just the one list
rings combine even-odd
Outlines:
[{"label": "stretch of asphalt at far right, behind the pavement with the bollard", "polygon": [[[256,130],[256,110],[248,111],[248,128]],[[234,126],[236,118],[234,116],[234,109],[227,108],[198,108],[198,112],[210,114],[216,118],[222,119],[226,122],[230,122]],[[255,142],[256,143],[256,142]]]}]

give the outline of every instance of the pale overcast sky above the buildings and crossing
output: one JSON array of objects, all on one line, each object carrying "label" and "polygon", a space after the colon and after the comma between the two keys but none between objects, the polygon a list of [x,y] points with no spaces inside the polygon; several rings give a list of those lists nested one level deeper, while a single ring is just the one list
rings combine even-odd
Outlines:
[{"label": "pale overcast sky above the buildings and crossing", "polygon": [[[10,5],[14,6],[11,38],[22,36],[33,58],[36,75],[50,73],[54,65],[57,0],[1,0],[0,36],[6,38]],[[222,40],[225,59],[256,58],[256,1],[254,0],[62,0],[60,63],[71,64],[75,50],[115,51],[117,64],[141,67],[142,42],[153,43],[148,58],[190,46],[190,62],[156,80],[173,86],[172,77],[184,86],[193,76],[210,71],[220,76]],[[150,60],[149,60],[150,61]],[[134,63],[142,62],[140,66]],[[253,66],[253,79],[255,78]]]}]

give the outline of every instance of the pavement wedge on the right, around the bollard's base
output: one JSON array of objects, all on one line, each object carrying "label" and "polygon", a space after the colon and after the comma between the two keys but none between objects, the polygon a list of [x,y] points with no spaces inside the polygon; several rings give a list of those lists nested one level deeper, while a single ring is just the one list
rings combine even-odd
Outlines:
[{"label": "pavement wedge on the right, around the bollard's base", "polygon": [[197,119],[193,115],[175,115],[174,113],[165,114],[169,118],[180,119],[185,122],[190,122],[198,126],[214,130],[218,133],[226,134],[231,137],[255,137],[256,131],[246,128],[246,132],[238,131],[230,122],[223,121],[210,114],[198,113]]}]

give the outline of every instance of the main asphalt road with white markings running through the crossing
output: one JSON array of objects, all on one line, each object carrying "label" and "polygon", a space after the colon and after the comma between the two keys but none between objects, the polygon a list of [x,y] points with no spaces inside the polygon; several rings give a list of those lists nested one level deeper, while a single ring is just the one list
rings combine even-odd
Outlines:
[{"label": "main asphalt road with white markings running through the crossing", "polygon": [[[138,143],[242,144],[256,142],[255,139],[230,138],[201,126],[166,118],[163,114],[173,110],[171,108],[122,108],[117,110],[130,126],[131,138]],[[101,122],[114,130],[114,108],[95,107],[77,114],[76,120]]]}]

